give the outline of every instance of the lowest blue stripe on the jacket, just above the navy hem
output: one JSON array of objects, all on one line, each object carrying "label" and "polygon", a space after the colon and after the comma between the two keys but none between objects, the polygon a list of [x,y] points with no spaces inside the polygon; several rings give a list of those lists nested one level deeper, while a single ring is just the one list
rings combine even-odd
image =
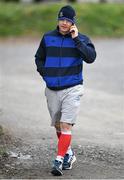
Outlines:
[{"label": "lowest blue stripe on the jacket, just above the navy hem", "polygon": [[79,84],[82,81],[82,73],[64,77],[44,77],[47,87],[62,87]]}]

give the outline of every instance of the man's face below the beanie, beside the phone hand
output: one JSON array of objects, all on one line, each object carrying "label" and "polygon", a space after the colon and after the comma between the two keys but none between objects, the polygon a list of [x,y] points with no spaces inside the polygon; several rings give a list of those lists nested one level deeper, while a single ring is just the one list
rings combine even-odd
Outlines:
[{"label": "man's face below the beanie, beside the phone hand", "polygon": [[59,20],[58,25],[59,25],[59,31],[63,34],[66,34],[69,33],[72,23],[64,19],[64,20]]}]

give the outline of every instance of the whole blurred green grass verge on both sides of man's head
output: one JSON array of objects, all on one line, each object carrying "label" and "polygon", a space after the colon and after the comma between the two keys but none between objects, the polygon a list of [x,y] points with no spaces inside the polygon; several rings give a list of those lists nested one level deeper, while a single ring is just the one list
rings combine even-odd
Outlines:
[{"label": "whole blurred green grass verge on both sides of man's head", "polygon": [[[0,3],[0,37],[39,36],[57,24],[64,4]],[[124,36],[124,4],[73,4],[80,32],[93,37]]]}]

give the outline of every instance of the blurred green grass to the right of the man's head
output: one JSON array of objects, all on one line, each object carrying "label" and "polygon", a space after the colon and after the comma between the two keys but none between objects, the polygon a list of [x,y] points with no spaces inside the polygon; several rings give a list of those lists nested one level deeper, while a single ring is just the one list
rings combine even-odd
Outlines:
[{"label": "blurred green grass to the right of the man's head", "polygon": [[96,4],[77,8],[81,31],[93,36],[124,36],[124,5]]}]

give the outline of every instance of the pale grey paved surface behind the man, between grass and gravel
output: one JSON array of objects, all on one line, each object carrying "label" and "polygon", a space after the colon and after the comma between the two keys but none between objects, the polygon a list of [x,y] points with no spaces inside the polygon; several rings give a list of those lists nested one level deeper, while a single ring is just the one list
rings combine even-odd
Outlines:
[{"label": "pale grey paved surface behind the man, between grass and gravel", "polygon": [[[74,127],[74,143],[124,146],[124,39],[94,40],[97,60],[84,64],[85,94]],[[0,41],[0,124],[36,143],[54,137],[36,72],[39,40]],[[78,140],[77,140],[78,139]]]}]

